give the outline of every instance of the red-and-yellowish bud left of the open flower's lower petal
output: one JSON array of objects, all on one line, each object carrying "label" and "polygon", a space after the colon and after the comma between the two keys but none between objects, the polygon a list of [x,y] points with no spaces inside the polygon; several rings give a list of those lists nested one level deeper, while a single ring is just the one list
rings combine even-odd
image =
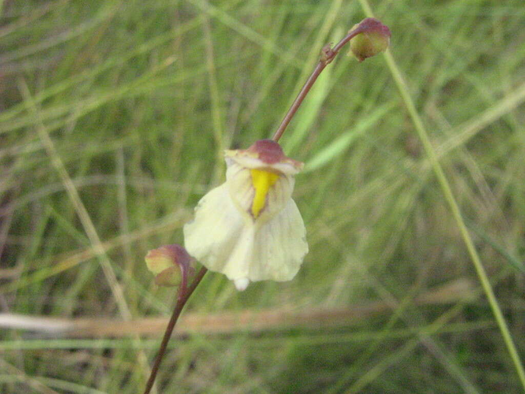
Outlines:
[{"label": "red-and-yellowish bud left of the open flower's lower petal", "polygon": [[146,266],[155,275],[158,286],[178,286],[184,270],[190,269],[191,257],[177,244],[164,245],[148,252]]}]

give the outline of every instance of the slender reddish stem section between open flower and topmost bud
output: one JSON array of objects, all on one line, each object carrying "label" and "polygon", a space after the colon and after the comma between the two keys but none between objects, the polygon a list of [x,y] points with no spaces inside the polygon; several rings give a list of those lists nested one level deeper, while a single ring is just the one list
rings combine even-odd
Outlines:
[{"label": "slender reddish stem section between open flower and topmost bud", "polygon": [[339,43],[337,43],[333,48],[330,48],[330,45],[323,47],[319,63],[317,64],[316,68],[314,68],[314,70],[312,71],[312,74],[310,75],[310,77],[302,87],[301,91],[297,95],[297,98],[295,99],[295,101],[293,101],[292,106],[286,113],[285,117],[282,119],[279,128],[274,134],[274,141],[279,141],[279,139],[282,136],[282,133],[285,132],[288,123],[290,123],[290,120],[292,120],[293,116],[301,106],[304,97],[306,97],[314,82],[317,80],[317,77],[319,77],[321,71],[324,70],[324,67],[331,63],[331,61],[346,43],[348,43],[353,37],[355,37],[359,33],[362,33],[364,30],[365,29],[362,26],[358,26],[356,29],[352,30],[350,33],[344,36],[343,39]]}]

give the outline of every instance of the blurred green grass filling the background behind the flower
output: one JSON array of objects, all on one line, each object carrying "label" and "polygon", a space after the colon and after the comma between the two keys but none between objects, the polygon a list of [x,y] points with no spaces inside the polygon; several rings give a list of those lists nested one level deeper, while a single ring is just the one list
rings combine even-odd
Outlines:
[{"label": "blurred green grass filling the background behind the flower", "polygon": [[[393,32],[392,54],[523,354],[525,6],[371,5]],[[152,284],[146,251],[182,243],[193,206],[221,182],[222,149],[270,137],[320,48],[364,17],[341,0],[4,0],[0,10],[0,305],[61,317],[121,316],[101,263],[131,316],[168,314],[174,296]],[[310,245],[301,271],[244,293],[208,275],[188,309],[382,299],[392,313],[351,327],[174,339],[162,392],[522,392],[482,292],[414,303],[458,277],[478,282],[384,59],[341,54],[325,72],[281,140],[308,170],[295,191]],[[370,339],[349,339],[360,333]],[[2,392],[140,392],[136,348],[154,354],[132,337],[38,341],[0,354]]]}]

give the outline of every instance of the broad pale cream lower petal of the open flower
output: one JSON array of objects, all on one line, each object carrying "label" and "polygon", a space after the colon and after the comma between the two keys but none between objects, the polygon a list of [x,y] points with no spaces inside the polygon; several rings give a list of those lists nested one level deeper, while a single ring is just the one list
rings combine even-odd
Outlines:
[{"label": "broad pale cream lower petal of the open flower", "polygon": [[254,223],[241,216],[226,183],[199,201],[194,221],[184,226],[184,239],[193,257],[235,281],[238,289],[249,281],[289,281],[308,253],[306,229],[292,199],[271,219]]}]

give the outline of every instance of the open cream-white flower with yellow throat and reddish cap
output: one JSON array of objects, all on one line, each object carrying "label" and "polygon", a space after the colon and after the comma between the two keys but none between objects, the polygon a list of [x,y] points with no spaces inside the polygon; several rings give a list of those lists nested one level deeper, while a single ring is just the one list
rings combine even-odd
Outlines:
[{"label": "open cream-white flower with yellow throat and reddish cap", "polygon": [[308,253],[306,230],[291,199],[303,164],[279,144],[260,140],[225,153],[226,182],[209,191],[184,226],[185,246],[206,268],[239,290],[249,282],[289,281]]}]

